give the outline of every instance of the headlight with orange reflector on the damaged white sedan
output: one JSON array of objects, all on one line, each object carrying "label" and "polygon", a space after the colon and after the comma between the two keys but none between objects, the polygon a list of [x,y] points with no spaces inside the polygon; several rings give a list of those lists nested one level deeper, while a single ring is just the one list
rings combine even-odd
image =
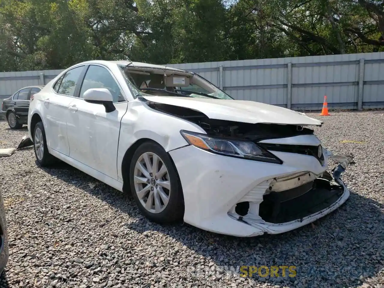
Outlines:
[{"label": "headlight with orange reflector on the damaged white sedan", "polygon": [[282,164],[279,158],[265,149],[260,148],[253,142],[236,139],[211,137],[207,134],[200,134],[189,131],[180,131],[184,139],[193,146],[214,152],[221,155]]}]

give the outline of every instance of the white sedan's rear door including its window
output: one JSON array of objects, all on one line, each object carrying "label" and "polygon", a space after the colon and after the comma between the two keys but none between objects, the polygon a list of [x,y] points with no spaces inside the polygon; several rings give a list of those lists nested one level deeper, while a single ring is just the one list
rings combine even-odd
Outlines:
[{"label": "white sedan's rear door including its window", "polygon": [[70,154],[67,137],[67,119],[70,116],[70,103],[76,99],[76,84],[83,75],[85,66],[79,66],[68,70],[54,84],[55,93],[43,95],[43,107],[45,115],[45,133],[47,145],[50,149],[58,151],[66,156]]}]

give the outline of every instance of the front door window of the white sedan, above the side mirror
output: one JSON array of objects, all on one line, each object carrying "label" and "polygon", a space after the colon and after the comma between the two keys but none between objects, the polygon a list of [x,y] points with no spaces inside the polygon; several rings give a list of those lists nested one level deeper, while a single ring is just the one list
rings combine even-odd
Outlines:
[{"label": "front door window of the white sedan, above the side mirror", "polygon": [[81,85],[80,98],[83,98],[85,91],[91,88],[106,88],[111,92],[113,96],[113,102],[124,102],[126,101],[121,94],[119,85],[112,77],[106,68],[96,65],[90,65],[83,84]]}]

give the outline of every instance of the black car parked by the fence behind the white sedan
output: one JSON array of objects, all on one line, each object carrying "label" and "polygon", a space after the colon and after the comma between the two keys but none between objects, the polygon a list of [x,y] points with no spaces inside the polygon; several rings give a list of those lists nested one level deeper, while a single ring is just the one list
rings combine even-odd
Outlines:
[{"label": "black car parked by the fence behind the white sedan", "polygon": [[12,96],[3,99],[1,113],[11,129],[20,129],[28,121],[28,108],[31,96],[40,92],[44,86],[27,86]]}]

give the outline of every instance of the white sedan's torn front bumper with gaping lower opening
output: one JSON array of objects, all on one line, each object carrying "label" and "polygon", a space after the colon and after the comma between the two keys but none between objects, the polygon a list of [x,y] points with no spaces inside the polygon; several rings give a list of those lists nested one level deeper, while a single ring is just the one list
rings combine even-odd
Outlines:
[{"label": "white sedan's torn front bumper with gaping lower opening", "polygon": [[[325,172],[331,161],[324,150],[324,164],[310,155],[276,152],[284,161],[282,165],[218,156],[194,146],[170,151],[188,203],[185,223],[215,233],[252,237],[294,230],[331,213],[349,198],[349,190],[333,178],[332,166],[329,173]],[[316,185],[310,185],[311,182]],[[303,185],[306,186],[301,190],[293,190]],[[308,190],[311,190],[309,194]],[[300,215],[290,213],[289,218],[277,214],[281,222],[263,219],[262,203],[274,191],[286,193],[281,198],[282,206],[290,207],[294,203],[298,209],[307,211],[300,211],[305,212]],[[318,194],[324,194],[322,199],[316,198]],[[313,205],[308,205],[308,199]],[[308,211],[309,206],[313,207],[312,211]]]}]

